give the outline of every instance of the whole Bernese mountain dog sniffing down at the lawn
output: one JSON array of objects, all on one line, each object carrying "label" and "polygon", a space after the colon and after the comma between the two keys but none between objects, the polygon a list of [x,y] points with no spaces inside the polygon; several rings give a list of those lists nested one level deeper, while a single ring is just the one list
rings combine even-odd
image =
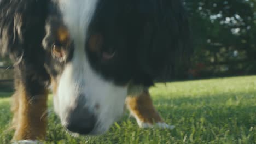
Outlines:
[{"label": "whole Bernese mountain dog sniffing down at the lawn", "polygon": [[184,68],[188,47],[179,0],[0,0],[0,52],[15,70],[13,140],[45,139],[49,91],[73,133],[104,133],[125,105],[140,127],[173,128],[148,88]]}]

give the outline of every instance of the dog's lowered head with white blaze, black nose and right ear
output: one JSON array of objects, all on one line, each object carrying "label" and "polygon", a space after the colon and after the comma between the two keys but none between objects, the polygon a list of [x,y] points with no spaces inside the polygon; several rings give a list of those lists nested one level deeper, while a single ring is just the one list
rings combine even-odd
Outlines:
[{"label": "dog's lowered head with white blaze, black nose and right ear", "polygon": [[130,87],[152,86],[181,58],[188,27],[177,1],[60,0],[45,30],[54,109],[67,129],[93,135],[121,116]]}]

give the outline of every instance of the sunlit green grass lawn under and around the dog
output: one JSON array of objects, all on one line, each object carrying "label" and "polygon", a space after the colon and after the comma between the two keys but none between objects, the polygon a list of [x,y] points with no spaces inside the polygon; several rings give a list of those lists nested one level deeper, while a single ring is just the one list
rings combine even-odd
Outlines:
[{"label": "sunlit green grass lawn under and around the dog", "polygon": [[[174,130],[140,129],[126,113],[102,136],[74,138],[50,112],[46,143],[256,143],[256,76],[159,83],[150,93]],[[1,143],[13,134],[9,95],[0,93]]]}]

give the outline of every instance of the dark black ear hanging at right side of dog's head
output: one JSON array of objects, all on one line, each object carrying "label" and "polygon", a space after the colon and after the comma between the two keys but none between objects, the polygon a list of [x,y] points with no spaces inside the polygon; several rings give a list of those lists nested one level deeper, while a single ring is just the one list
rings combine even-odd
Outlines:
[{"label": "dark black ear hanging at right side of dog's head", "polygon": [[149,77],[168,69],[176,75],[189,62],[188,17],[179,0],[140,0],[139,21],[142,28],[136,48],[139,68]]}]

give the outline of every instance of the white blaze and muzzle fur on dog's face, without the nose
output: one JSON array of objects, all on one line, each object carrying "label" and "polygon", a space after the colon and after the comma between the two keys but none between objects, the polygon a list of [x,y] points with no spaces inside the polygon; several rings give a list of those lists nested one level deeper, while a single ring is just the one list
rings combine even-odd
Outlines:
[{"label": "white blaze and muzzle fur on dog's face, without the nose", "polygon": [[[67,110],[77,105],[75,100],[82,94],[86,99],[86,103],[82,105],[98,118],[97,127],[92,134],[101,134],[122,115],[127,86],[114,85],[97,74],[86,56],[86,31],[97,1],[62,0],[59,4],[75,48],[71,62],[66,64],[60,77],[57,97],[54,98],[55,111],[60,116],[62,124],[66,125],[69,114]],[[96,105],[98,109],[95,109]]]}]

